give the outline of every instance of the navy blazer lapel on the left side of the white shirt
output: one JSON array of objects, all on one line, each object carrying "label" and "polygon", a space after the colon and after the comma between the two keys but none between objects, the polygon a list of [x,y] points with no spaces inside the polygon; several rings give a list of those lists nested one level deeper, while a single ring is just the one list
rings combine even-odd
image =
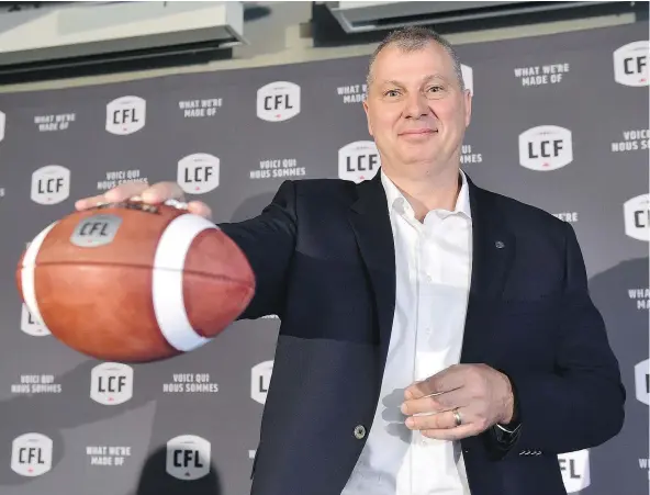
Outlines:
[{"label": "navy blazer lapel on the left side of the white shirt", "polygon": [[395,312],[395,249],[381,173],[357,185],[349,221],[374,295],[379,327],[379,376],[383,375]]}]

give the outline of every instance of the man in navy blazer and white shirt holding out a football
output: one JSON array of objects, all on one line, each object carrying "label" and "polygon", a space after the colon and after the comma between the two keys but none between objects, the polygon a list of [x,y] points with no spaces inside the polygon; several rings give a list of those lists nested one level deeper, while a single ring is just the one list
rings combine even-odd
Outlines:
[{"label": "man in navy blazer and white shirt holding out a football", "polygon": [[[374,179],[284,182],[220,224],[282,324],[253,495],[560,495],[557,454],[621,428],[625,391],[569,224],[460,170],[471,97],[425,29],[373,55]],[[182,201],[173,183],[82,200]],[[210,209],[190,202],[210,217]]]}]

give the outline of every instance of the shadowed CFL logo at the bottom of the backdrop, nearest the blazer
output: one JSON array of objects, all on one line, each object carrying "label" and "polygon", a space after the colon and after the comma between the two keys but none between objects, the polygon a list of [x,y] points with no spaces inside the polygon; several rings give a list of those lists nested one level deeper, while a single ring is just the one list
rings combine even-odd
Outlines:
[{"label": "shadowed CFL logo at the bottom of the backdrop, nearest the blazer", "polygon": [[167,473],[178,480],[200,480],[210,473],[211,446],[195,435],[181,435],[167,442]]}]

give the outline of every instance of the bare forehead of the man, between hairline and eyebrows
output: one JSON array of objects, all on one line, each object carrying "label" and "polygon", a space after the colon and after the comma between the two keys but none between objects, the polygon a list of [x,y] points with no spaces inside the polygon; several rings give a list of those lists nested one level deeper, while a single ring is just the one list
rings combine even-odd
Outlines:
[{"label": "bare forehead of the man, between hairline and eyebrows", "polygon": [[455,74],[451,56],[433,42],[408,50],[397,45],[386,46],[374,59],[372,72],[378,82],[386,79],[417,79],[432,74],[451,78]]}]

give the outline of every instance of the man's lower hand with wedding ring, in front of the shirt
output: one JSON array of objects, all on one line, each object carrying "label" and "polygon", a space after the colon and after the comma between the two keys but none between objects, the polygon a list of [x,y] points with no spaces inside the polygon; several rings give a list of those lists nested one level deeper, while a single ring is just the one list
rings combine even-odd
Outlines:
[{"label": "man's lower hand with wedding ring, in front of the shirt", "polygon": [[486,364],[447,368],[408,386],[404,400],[406,427],[440,440],[475,436],[497,423],[506,425],[513,417],[511,382]]}]

